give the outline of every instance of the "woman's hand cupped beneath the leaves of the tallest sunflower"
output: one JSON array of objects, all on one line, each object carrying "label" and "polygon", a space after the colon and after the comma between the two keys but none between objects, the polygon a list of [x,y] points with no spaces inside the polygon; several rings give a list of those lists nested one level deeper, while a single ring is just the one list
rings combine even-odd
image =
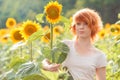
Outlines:
[{"label": "woman's hand cupped beneath the leaves of the tallest sunflower", "polygon": [[42,61],[43,69],[51,72],[58,71],[60,64],[51,63],[48,59]]}]

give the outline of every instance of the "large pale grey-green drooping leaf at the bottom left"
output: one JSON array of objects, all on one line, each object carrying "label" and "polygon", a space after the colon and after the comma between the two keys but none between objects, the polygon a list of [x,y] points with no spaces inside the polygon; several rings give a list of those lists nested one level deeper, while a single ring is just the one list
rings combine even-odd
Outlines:
[{"label": "large pale grey-green drooping leaf at the bottom left", "polygon": [[32,74],[41,74],[40,68],[37,63],[27,62],[20,66],[18,72],[16,73],[16,77],[20,79]]}]

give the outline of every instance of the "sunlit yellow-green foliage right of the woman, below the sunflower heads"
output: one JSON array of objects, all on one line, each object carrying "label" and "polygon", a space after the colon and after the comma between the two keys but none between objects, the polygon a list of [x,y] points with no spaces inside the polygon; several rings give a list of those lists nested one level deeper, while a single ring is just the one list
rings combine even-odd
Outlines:
[{"label": "sunlit yellow-green foliage right of the woman, below the sunflower heads", "polygon": [[[119,37],[119,35],[118,35]],[[120,73],[120,42],[115,41],[114,37],[106,37],[104,40],[98,40],[95,45],[103,50],[107,56],[107,80],[118,80]],[[101,45],[102,44],[102,45]]]}]

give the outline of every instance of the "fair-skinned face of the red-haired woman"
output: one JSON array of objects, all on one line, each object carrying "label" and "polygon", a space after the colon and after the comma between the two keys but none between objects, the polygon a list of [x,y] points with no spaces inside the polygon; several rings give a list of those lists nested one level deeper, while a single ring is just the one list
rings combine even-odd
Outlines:
[{"label": "fair-skinned face of the red-haired woman", "polygon": [[77,22],[75,24],[76,35],[80,38],[90,38],[91,30],[85,22]]}]

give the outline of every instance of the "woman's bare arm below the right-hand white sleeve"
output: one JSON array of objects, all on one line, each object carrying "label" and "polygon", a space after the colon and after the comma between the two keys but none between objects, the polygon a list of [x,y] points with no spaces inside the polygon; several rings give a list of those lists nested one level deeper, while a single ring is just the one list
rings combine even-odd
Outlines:
[{"label": "woman's bare arm below the right-hand white sleeve", "polygon": [[96,69],[96,80],[106,80],[106,67]]}]

